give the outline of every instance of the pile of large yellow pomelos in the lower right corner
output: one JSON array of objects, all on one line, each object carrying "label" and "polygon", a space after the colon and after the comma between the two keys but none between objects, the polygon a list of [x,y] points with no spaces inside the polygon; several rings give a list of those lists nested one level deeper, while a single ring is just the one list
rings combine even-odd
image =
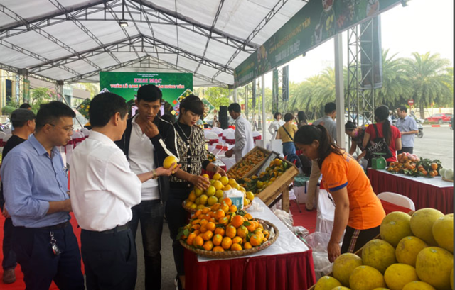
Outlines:
[{"label": "pile of large yellow pomelos in the lower right corner", "polygon": [[333,277],[316,290],[449,290],[453,285],[454,218],[434,208],[412,216],[392,212],[380,225],[381,239],[362,257],[346,253],[333,263]]}]

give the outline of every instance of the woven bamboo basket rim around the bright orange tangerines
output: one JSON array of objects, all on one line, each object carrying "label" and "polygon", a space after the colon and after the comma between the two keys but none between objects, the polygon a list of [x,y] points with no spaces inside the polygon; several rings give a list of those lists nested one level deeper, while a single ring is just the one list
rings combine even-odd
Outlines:
[{"label": "woven bamboo basket rim around the bright orange tangerines", "polygon": [[267,242],[264,242],[262,245],[259,245],[257,247],[252,247],[251,249],[248,249],[248,250],[212,252],[212,251],[196,249],[196,247],[188,245],[184,240],[180,240],[180,243],[183,247],[185,247],[186,249],[195,253],[196,255],[214,258],[214,259],[230,259],[230,258],[234,258],[234,257],[252,255],[252,254],[255,254],[256,252],[260,252],[264,249],[267,249],[267,247],[270,247],[270,245],[272,245],[274,242],[277,241],[277,238],[279,236],[279,230],[273,223],[270,223],[269,221],[265,221],[265,220],[260,220],[260,219],[258,219],[257,221],[259,221],[259,223],[262,224],[262,226],[264,227],[265,230],[269,230],[270,236],[272,238],[269,238],[269,240],[267,240]]}]

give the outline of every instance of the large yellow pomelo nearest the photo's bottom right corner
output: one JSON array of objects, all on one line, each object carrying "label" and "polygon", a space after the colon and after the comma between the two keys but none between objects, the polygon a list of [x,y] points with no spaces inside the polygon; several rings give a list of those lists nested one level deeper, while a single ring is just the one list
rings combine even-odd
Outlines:
[{"label": "large yellow pomelo nearest the photo's bottom right corner", "polygon": [[450,287],[450,273],[454,264],[454,255],[441,247],[427,247],[417,255],[415,269],[419,279],[432,285],[437,290]]}]

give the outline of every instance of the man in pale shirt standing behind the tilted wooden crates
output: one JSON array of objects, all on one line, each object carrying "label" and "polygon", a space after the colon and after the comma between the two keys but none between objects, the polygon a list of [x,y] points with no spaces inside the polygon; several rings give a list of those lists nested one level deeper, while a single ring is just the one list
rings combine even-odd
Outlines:
[{"label": "man in pale shirt standing behind the tilted wooden crates", "polygon": [[232,149],[226,151],[226,157],[232,157],[235,154],[235,162],[239,162],[242,157],[247,155],[255,147],[251,124],[243,118],[240,105],[232,103],[228,107],[230,116],[235,120],[235,145]]}]

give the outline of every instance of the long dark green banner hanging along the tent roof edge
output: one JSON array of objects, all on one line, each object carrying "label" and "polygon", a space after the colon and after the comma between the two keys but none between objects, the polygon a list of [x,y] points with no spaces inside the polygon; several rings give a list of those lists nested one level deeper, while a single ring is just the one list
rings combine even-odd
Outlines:
[{"label": "long dark green banner hanging along the tent roof edge", "polygon": [[337,33],[400,4],[401,0],[311,0],[235,68],[234,87],[293,60]]}]

